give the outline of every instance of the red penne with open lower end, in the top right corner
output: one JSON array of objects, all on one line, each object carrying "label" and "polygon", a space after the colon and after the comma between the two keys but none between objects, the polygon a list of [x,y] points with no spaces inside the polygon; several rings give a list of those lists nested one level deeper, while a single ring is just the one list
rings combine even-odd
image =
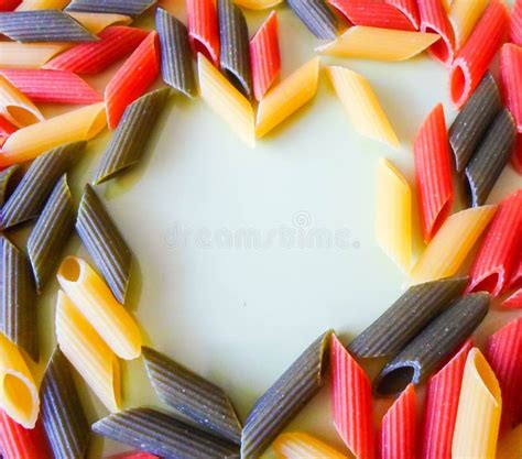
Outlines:
[{"label": "red penne with open lower end, in the top right corner", "polygon": [[508,7],[502,0],[491,0],[449,70],[449,92],[457,108],[460,108],[477,88],[508,31]]}]

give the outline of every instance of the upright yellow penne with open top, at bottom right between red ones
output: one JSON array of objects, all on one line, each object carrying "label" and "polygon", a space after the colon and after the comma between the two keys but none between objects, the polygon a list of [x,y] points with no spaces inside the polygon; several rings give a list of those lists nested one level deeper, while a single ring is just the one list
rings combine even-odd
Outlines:
[{"label": "upright yellow penne with open top, at bottom right between red ones", "polygon": [[494,459],[501,411],[499,382],[480,350],[474,348],[464,368],[453,459]]}]

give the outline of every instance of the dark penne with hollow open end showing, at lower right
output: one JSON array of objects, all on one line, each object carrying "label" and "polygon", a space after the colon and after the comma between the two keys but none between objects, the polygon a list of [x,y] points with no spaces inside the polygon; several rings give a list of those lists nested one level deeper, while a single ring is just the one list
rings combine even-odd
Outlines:
[{"label": "dark penne with hollow open end showing, at lower right", "polygon": [[374,382],[376,391],[392,394],[410,383],[424,382],[475,331],[489,304],[488,293],[457,299],[383,368]]}]

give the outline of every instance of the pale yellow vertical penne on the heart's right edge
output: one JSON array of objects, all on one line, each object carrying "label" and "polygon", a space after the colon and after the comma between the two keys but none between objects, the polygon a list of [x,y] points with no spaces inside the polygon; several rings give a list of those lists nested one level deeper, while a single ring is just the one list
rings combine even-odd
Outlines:
[{"label": "pale yellow vertical penne on the heart's right edge", "polygon": [[376,237],[379,245],[404,271],[412,259],[412,192],[387,160],[377,170]]}]

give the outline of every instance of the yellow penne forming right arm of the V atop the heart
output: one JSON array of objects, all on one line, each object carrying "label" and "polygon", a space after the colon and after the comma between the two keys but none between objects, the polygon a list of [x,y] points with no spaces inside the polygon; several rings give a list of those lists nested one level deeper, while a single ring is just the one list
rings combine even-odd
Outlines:
[{"label": "yellow penne forming right arm of the V atop the heart", "polygon": [[319,58],[314,57],[270,89],[259,102],[255,134],[265,135],[311,100],[318,79]]}]

